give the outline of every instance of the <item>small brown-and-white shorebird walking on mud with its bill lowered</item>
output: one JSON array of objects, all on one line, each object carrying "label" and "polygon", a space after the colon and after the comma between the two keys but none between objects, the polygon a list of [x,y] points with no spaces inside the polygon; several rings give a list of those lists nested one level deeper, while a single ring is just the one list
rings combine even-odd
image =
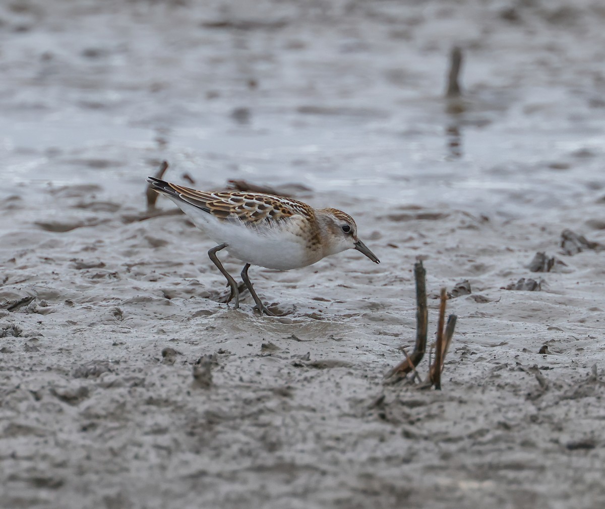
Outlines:
[{"label": "small brown-and-white shorebird walking on mud with its bill lowered", "polygon": [[272,313],[258,298],[248,277],[250,265],[290,270],[347,249],[361,251],[380,263],[358,239],[353,218],[341,210],[313,209],[295,199],[264,193],[197,191],[159,178],[149,177],[147,181],[218,242],[208,256],[226,277],[231,287],[227,302],[235,299],[235,308],[240,305],[240,295],[235,279],[217,258],[221,249],[244,262],[241,279],[256,303],[254,309],[268,315]]}]

